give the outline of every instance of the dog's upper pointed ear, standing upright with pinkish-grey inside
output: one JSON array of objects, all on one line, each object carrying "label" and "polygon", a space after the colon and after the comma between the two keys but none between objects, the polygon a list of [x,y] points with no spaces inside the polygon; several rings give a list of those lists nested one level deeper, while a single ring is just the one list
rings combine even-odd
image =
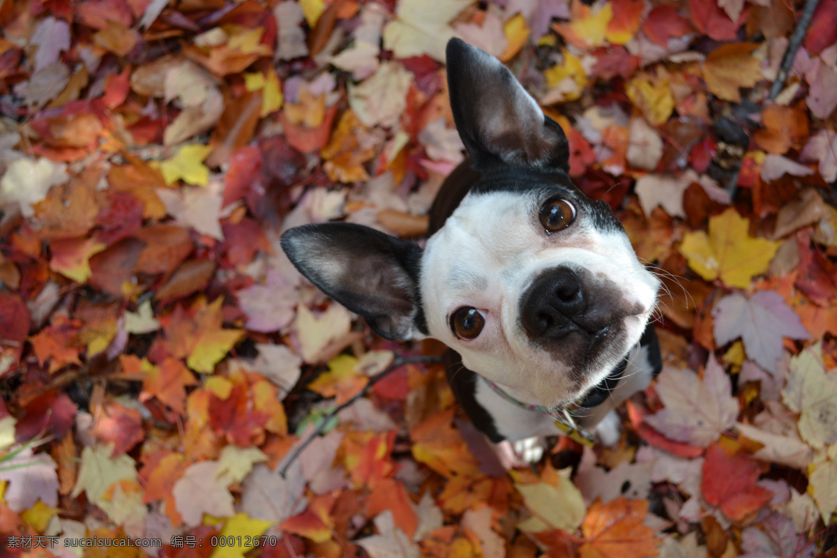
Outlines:
[{"label": "dog's upper pointed ear, standing upright with pinkish-grey inside", "polygon": [[500,60],[459,38],[448,42],[447,58],[450,108],[478,170],[500,161],[569,170],[561,126],[543,114]]}]

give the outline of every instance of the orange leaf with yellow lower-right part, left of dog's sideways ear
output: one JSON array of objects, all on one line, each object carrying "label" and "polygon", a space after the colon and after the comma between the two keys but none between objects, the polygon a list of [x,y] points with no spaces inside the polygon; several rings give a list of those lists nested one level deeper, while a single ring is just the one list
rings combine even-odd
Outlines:
[{"label": "orange leaf with yellow lower-right part, left of dog's sideways ear", "polygon": [[209,305],[201,297],[188,310],[178,305],[167,320],[166,333],[172,354],[185,358],[193,371],[211,374],[218,361],[241,338],[242,331],[223,329],[222,304],[221,297]]}]

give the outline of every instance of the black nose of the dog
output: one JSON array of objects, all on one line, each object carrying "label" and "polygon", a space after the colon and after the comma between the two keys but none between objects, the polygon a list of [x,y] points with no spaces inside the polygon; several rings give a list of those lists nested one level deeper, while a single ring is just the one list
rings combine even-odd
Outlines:
[{"label": "black nose of the dog", "polygon": [[553,269],[523,295],[523,328],[531,337],[561,337],[580,329],[574,319],[586,307],[581,281],[573,269]]}]

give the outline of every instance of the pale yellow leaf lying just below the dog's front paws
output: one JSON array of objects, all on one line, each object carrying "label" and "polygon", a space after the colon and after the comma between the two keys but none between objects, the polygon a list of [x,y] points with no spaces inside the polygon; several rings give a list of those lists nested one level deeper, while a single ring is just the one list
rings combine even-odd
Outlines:
[{"label": "pale yellow leaf lying just below the dog's front paws", "polygon": [[[554,483],[517,484],[515,488],[523,496],[532,517],[517,527],[526,533],[543,530],[576,530],[584,520],[584,499],[573,481],[570,470],[562,469],[554,476]],[[560,503],[560,505],[557,505]]]}]

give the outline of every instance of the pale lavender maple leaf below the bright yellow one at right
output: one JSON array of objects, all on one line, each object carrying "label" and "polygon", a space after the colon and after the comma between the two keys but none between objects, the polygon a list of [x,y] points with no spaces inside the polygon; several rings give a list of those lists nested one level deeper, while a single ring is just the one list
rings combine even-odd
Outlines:
[{"label": "pale lavender maple leaf below the bright yellow one at right", "polygon": [[712,309],[712,316],[719,346],[740,337],[747,356],[773,374],[782,355],[783,337],[810,337],[799,316],[772,290],[760,290],[748,299],[740,293],[727,294]]}]

